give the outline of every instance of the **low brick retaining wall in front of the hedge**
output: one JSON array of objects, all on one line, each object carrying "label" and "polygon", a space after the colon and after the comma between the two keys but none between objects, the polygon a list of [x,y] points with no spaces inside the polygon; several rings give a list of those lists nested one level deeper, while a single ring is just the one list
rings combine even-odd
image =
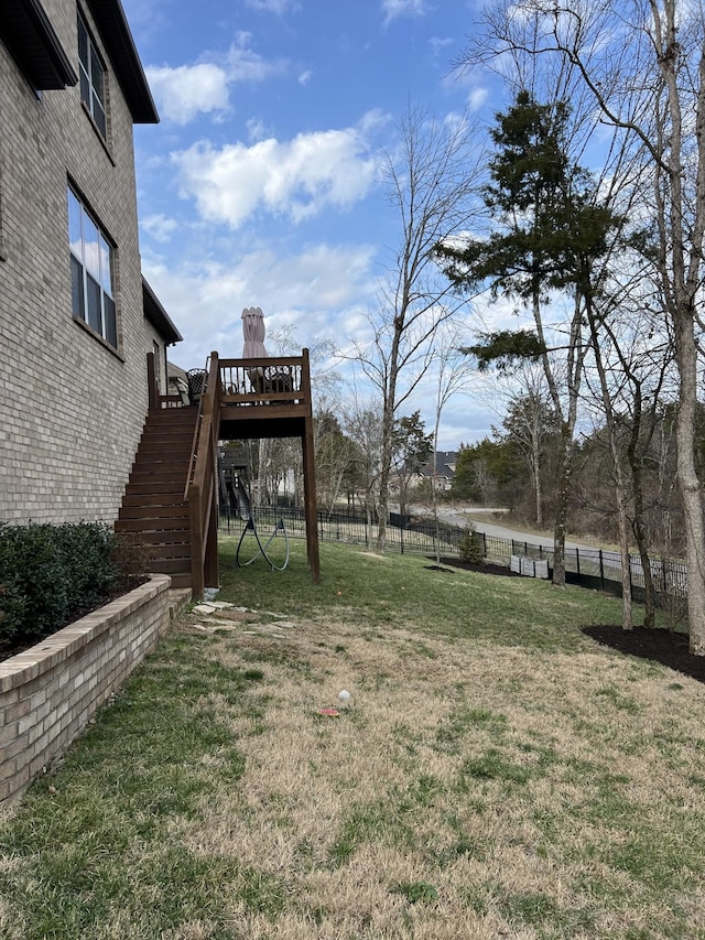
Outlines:
[{"label": "low brick retaining wall in front of the hedge", "polygon": [[166,631],[171,579],[123,597],[0,662],[0,803],[58,757]]}]

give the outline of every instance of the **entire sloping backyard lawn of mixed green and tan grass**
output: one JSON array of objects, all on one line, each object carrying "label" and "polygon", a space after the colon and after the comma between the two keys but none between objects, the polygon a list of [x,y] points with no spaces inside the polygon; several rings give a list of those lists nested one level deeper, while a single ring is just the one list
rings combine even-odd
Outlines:
[{"label": "entire sloping backyard lawn of mixed green and tan grass", "polygon": [[705,938],[705,685],[581,633],[619,602],[221,547],[248,611],[185,613],[0,817],[0,938]]}]

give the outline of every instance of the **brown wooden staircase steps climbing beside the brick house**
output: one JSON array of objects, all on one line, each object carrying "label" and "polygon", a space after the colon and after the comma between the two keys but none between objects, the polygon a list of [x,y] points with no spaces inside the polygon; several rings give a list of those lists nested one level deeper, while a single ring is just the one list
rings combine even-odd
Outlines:
[{"label": "brown wooden staircase steps climbing beside the brick house", "polygon": [[192,586],[184,489],[197,415],[195,407],[149,412],[115,523],[147,549],[150,571],[171,575],[173,587]]}]

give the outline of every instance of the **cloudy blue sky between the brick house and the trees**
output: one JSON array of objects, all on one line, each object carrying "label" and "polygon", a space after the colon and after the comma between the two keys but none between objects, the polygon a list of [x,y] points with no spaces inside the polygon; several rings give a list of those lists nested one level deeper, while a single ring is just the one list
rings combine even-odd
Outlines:
[{"label": "cloudy blue sky between the brick house and the trees", "polygon": [[[161,117],[135,128],[135,156],[143,272],[184,336],[171,358],[240,356],[252,305],[300,347],[361,335],[399,239],[377,171],[400,116],[505,105],[489,76],[452,75],[475,4],[122,2]],[[440,445],[491,423],[456,399]]]}]

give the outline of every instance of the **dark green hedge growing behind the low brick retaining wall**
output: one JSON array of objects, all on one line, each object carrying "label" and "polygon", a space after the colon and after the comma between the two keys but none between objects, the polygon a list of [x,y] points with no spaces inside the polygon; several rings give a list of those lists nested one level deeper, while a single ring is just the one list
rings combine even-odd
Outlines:
[{"label": "dark green hedge growing behind the low brick retaining wall", "polygon": [[0,523],[0,645],[35,642],[107,599],[118,548],[101,522]]}]

